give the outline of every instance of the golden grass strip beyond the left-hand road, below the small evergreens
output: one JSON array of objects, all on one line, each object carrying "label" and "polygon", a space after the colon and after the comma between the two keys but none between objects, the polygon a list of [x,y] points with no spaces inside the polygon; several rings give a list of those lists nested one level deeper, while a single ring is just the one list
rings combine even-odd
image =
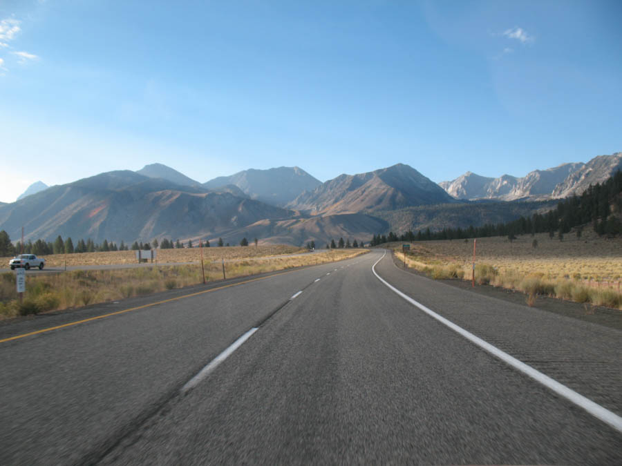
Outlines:
[{"label": "golden grass strip beyond the left-hand road, below the small evergreens", "polygon": [[[223,246],[203,248],[203,259],[231,260],[244,258],[259,258],[270,255],[282,255],[305,252],[296,246],[275,244],[267,246]],[[149,253],[149,251],[144,251]],[[134,264],[136,261],[135,251],[109,251],[106,253],[77,253],[77,254],[53,254],[42,256],[46,260],[47,267],[62,267],[79,265],[117,265]],[[0,268],[7,267],[10,258],[0,258]],[[187,262],[200,262],[200,249],[158,249],[156,262],[162,264],[185,264]]]}]

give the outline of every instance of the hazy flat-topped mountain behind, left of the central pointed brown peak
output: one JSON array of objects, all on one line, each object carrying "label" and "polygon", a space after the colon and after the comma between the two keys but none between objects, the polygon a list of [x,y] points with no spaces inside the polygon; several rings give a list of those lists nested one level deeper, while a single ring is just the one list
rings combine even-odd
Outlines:
[{"label": "hazy flat-topped mountain behind, left of the central pointed brown peak", "polygon": [[208,189],[216,189],[227,184],[238,186],[252,199],[275,206],[285,206],[296,196],[321,184],[302,168],[297,166],[241,171],[231,176],[221,176],[204,183]]}]

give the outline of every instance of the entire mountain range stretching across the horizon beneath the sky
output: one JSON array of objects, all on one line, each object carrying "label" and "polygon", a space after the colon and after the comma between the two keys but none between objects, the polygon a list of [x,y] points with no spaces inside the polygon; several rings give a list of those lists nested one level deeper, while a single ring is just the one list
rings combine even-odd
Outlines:
[{"label": "entire mountain range stretching across the horizon beneath the sky", "polygon": [[[26,239],[48,241],[62,235],[95,242],[164,237],[223,237],[232,244],[242,237],[296,245],[311,240],[323,245],[339,237],[367,242],[389,230],[478,226],[531,215],[620,168],[622,153],[615,153],[522,178],[469,172],[440,184],[406,164],[324,183],[299,167],[247,170],[200,183],[151,164],[24,193],[0,204],[0,229],[14,240],[24,226]],[[525,199],[530,202],[507,202]]]}]

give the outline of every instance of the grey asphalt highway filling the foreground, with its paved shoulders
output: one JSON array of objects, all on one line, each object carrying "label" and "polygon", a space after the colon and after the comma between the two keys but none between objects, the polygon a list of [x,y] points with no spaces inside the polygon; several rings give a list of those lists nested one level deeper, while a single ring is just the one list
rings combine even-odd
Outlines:
[{"label": "grey asphalt highway filling the foreground, with its paved shoulders", "polygon": [[[622,464],[620,431],[401,298],[380,257],[0,327],[0,464]],[[376,271],[622,414],[620,331]]]}]

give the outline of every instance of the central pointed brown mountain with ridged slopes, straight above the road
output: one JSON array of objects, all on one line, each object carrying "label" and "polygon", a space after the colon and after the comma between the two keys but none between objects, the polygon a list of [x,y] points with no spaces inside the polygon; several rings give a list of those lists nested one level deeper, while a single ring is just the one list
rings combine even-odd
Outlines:
[{"label": "central pointed brown mountain with ridged slopes, straight above the road", "polygon": [[339,175],[296,197],[289,208],[312,214],[392,210],[452,202],[440,186],[414,168],[397,164],[359,175]]}]

